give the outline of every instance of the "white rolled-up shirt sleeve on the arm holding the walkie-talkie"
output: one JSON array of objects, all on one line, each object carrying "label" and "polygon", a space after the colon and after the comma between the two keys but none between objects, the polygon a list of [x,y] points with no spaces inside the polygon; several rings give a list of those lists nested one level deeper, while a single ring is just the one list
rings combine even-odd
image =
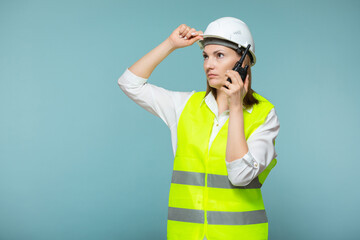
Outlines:
[{"label": "white rolled-up shirt sleeve on the arm holding the walkie-talkie", "polygon": [[277,157],[275,139],[280,130],[275,108],[271,109],[265,122],[248,138],[249,151],[244,157],[226,162],[228,177],[235,186],[246,186]]}]

